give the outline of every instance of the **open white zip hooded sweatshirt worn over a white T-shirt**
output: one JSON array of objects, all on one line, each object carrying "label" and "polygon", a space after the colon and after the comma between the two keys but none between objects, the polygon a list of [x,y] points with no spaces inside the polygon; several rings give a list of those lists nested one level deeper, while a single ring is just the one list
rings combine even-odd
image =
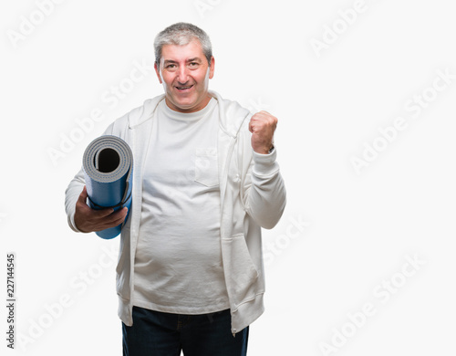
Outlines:
[{"label": "open white zip hooded sweatshirt worn over a white T-shirt", "polygon": [[[235,101],[217,99],[220,125],[217,140],[221,222],[220,238],[223,273],[235,334],[250,325],[264,312],[264,266],[261,227],[272,228],[285,209],[285,183],[275,162],[276,151],[254,152],[248,124],[251,114]],[[133,324],[132,294],[134,258],[140,231],[142,176],[146,160],[152,120],[164,95],[148,99],[109,125],[104,132],[119,136],[133,152],[133,191],[130,215],[120,234],[117,293],[119,318]],[[79,171],[66,192],[68,224],[74,231],[76,202],[84,187],[84,173]]]}]

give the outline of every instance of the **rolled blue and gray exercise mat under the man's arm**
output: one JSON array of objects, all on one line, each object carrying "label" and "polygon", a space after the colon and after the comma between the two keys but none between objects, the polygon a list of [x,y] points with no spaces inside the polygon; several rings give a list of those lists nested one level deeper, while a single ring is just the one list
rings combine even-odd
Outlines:
[{"label": "rolled blue and gray exercise mat under the man's arm", "polygon": [[[131,204],[133,155],[130,146],[117,136],[100,136],[91,141],[84,152],[88,205],[92,209],[113,208],[117,211]],[[125,218],[127,221],[128,215]],[[123,224],[98,231],[102,238],[120,234]]]}]

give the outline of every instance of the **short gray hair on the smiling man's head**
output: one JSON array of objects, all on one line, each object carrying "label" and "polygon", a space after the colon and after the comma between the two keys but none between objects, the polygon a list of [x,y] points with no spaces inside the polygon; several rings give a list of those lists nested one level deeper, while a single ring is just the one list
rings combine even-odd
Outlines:
[{"label": "short gray hair on the smiling man's head", "polygon": [[184,46],[189,44],[192,39],[200,41],[202,46],[202,53],[207,59],[209,66],[211,66],[212,58],[212,44],[211,39],[207,34],[198,26],[179,22],[177,24],[166,27],[161,33],[155,37],[153,47],[155,50],[155,63],[160,67],[161,48],[165,45]]}]

